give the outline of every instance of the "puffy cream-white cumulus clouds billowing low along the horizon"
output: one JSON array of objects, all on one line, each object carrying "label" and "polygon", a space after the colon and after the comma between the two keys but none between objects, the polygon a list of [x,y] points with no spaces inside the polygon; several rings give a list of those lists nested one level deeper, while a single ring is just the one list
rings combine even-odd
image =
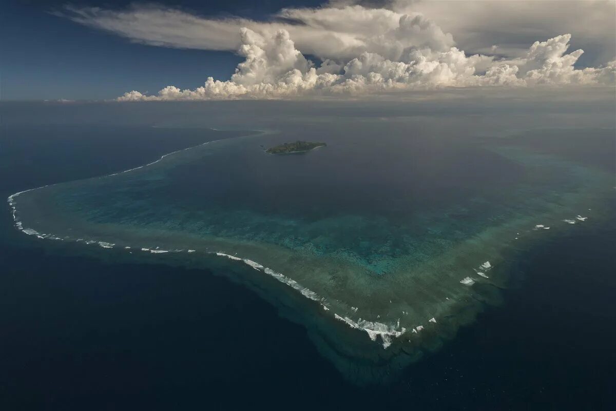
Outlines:
[{"label": "puffy cream-white cumulus clouds billowing low along the horizon", "polygon": [[[342,67],[326,61],[318,70],[296,49],[285,30],[262,36],[243,28],[241,39],[239,53],[246,60],[238,65],[229,81],[215,81],[210,77],[203,87],[195,90],[168,86],[158,95],[132,91],[118,100],[284,98],[299,94],[362,95],[431,87],[614,84],[616,78],[616,62],[602,68],[576,70],[573,65],[582,50],[567,54],[569,34],[535,42],[525,57],[517,60],[466,56],[456,47],[440,52],[425,47],[408,50],[404,61],[363,52]],[[485,72],[479,73],[482,68]]]}]

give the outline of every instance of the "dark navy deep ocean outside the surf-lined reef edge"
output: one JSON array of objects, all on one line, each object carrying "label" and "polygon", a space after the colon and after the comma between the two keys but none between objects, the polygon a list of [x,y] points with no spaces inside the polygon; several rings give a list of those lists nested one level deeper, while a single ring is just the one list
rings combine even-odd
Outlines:
[{"label": "dark navy deep ocean outside the surf-lined reef edge", "polygon": [[[149,130],[86,131],[83,143],[74,126],[2,129],[0,194],[108,174],[200,142],[194,130],[172,139],[162,131],[155,143]],[[18,233],[7,206],[0,221],[1,409],[616,404],[614,218],[525,253],[501,306],[396,383],[363,388],[347,383],[301,326],[240,285],[203,270],[54,252]]]}]

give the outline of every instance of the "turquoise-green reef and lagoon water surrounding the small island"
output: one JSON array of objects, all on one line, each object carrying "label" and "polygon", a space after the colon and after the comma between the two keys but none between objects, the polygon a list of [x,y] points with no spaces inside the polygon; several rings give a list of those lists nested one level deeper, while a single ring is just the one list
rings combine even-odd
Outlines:
[{"label": "turquoise-green reef and lagoon water surrounding the small island", "polygon": [[[324,350],[389,356],[472,321],[498,299],[517,248],[569,228],[564,220],[601,218],[611,189],[608,173],[508,138],[346,126],[211,142],[10,202],[41,237],[248,269],[266,298],[306,300],[299,321],[328,340]],[[298,138],[328,146],[264,153]],[[272,278],[291,287],[262,284]]]}]

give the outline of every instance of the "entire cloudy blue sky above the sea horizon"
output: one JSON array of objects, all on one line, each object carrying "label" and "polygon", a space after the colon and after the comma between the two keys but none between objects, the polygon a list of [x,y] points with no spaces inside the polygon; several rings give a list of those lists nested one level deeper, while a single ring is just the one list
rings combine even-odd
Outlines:
[{"label": "entire cloudy blue sky above the sea horizon", "polygon": [[614,87],[616,2],[3,0],[1,100]]}]

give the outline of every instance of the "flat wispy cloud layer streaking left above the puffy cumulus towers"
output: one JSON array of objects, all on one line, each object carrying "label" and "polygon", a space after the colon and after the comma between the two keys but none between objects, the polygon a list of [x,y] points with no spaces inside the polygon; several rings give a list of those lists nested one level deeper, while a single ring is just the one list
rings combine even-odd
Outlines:
[{"label": "flat wispy cloud layer streaking left above the puffy cumulus towers", "polygon": [[[452,46],[443,33],[421,14],[347,6],[342,9],[283,9],[272,22],[239,17],[205,18],[175,9],[133,6],[126,10],[67,7],[74,22],[111,31],[152,46],[236,51],[242,44],[241,28],[262,36],[278,30],[290,33],[303,54],[331,60],[348,59],[364,51],[397,59],[408,47],[442,50]],[[293,20],[295,23],[285,21]]]}]

